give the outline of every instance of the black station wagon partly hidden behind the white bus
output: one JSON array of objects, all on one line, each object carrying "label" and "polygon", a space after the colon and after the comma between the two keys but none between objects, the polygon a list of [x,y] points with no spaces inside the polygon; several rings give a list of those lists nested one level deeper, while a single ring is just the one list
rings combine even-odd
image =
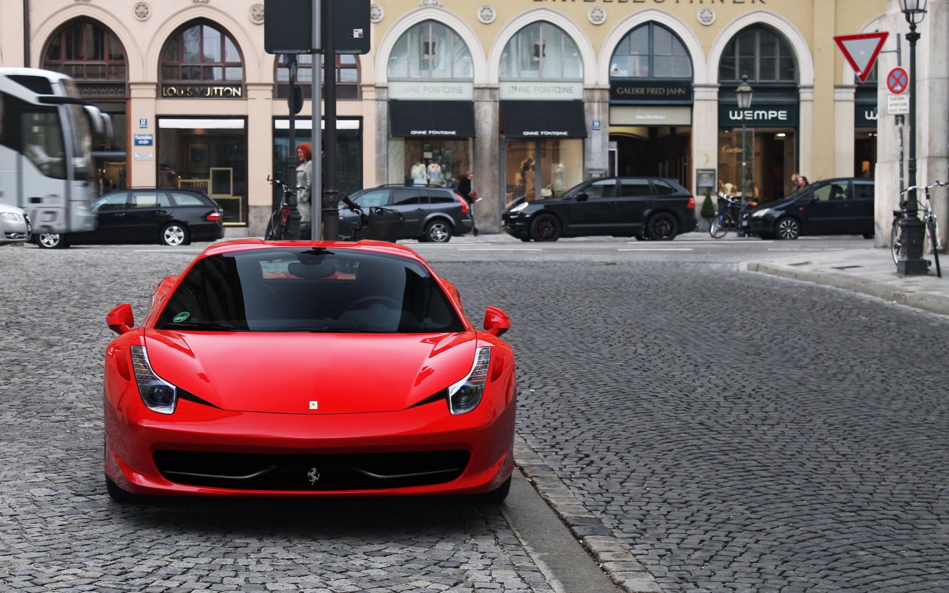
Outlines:
[{"label": "black station wagon partly hidden behind the white bus", "polygon": [[93,210],[98,221],[95,231],[41,233],[33,235],[33,241],[52,250],[113,243],[178,246],[224,236],[223,211],[208,195],[195,190],[116,190],[102,195]]}]

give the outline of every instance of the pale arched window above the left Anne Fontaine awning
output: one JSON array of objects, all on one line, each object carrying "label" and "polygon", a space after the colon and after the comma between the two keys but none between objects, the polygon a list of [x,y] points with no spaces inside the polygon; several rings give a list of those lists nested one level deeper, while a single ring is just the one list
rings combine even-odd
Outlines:
[{"label": "pale arched window above the left Anne Fontaine awning", "polygon": [[402,33],[389,54],[389,80],[470,81],[472,54],[454,29],[424,21]]}]

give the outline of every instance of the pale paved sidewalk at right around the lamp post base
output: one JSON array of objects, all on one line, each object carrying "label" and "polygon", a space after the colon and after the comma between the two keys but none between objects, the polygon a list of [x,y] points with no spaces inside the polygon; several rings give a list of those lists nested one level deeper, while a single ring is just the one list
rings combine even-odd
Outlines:
[{"label": "pale paved sidewalk at right around the lamp post base", "polygon": [[[923,258],[931,260],[932,255],[923,255]],[[845,288],[901,305],[949,315],[949,256],[943,258],[940,259],[942,278],[936,277],[935,264],[930,267],[927,276],[901,278],[896,273],[890,251],[872,247],[751,262],[748,269],[792,280]]]}]

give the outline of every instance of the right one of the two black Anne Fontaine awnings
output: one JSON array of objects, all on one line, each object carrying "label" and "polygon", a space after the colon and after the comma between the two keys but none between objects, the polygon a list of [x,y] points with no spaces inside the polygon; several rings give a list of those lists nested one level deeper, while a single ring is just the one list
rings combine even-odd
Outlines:
[{"label": "right one of the two black Anne Fontaine awnings", "polygon": [[586,138],[582,101],[502,101],[507,139]]}]

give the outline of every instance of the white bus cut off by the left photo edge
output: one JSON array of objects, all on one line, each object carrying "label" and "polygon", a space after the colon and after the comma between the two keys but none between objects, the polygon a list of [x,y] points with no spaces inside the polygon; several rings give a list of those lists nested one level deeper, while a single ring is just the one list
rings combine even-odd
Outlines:
[{"label": "white bus cut off by the left photo edge", "polygon": [[0,203],[27,211],[33,232],[94,230],[93,131],[111,123],[71,78],[0,68]]}]

